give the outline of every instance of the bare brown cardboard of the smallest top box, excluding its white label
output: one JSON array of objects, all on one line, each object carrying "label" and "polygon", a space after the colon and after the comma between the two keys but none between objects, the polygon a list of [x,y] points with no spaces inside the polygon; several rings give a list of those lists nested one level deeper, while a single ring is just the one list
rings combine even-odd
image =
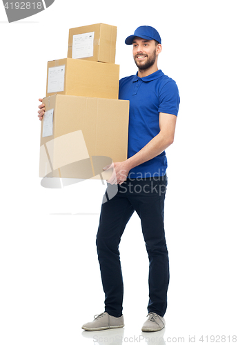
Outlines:
[{"label": "bare brown cardboard of the smallest top box, excluding its white label", "polygon": [[95,32],[93,42],[93,56],[84,57],[89,61],[115,63],[117,27],[108,24],[98,23],[88,26],[80,26],[69,30],[68,57],[72,57],[72,38],[75,34]]}]

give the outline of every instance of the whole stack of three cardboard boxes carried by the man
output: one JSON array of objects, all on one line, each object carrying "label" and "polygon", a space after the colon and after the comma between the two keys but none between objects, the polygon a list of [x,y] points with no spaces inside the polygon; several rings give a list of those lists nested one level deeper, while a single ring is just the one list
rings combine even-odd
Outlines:
[{"label": "whole stack of three cardboard boxes carried by the man", "polygon": [[68,57],[48,62],[40,177],[108,179],[127,158],[129,101],[118,99],[117,27],[69,31]]}]

